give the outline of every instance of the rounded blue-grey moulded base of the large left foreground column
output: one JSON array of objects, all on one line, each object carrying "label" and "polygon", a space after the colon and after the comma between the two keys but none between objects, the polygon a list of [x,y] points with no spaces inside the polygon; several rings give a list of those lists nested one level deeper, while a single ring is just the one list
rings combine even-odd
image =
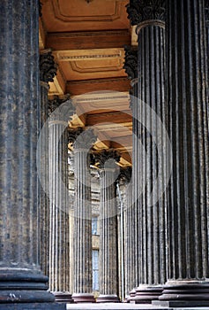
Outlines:
[{"label": "rounded blue-grey moulded base of the large left foreground column", "polygon": [[48,291],[48,277],[33,270],[0,270],[0,304],[53,303],[55,297]]}]

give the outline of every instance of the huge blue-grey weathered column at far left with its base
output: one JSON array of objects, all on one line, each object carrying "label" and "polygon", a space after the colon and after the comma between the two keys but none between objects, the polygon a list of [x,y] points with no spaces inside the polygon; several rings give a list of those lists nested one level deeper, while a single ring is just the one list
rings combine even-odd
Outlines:
[{"label": "huge blue-grey weathered column at far left with its base", "polygon": [[63,309],[53,303],[39,265],[39,5],[3,0],[0,10],[0,304]]}]

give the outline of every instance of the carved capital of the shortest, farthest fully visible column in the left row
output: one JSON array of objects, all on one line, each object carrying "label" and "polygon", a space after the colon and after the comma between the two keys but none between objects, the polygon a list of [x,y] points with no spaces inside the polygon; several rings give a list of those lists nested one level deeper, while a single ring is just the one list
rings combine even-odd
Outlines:
[{"label": "carved capital of the shortest, farthest fully visible column in the left row", "polygon": [[99,164],[101,169],[116,169],[116,162],[120,161],[121,156],[116,150],[102,150],[100,153],[94,153],[95,163]]}]

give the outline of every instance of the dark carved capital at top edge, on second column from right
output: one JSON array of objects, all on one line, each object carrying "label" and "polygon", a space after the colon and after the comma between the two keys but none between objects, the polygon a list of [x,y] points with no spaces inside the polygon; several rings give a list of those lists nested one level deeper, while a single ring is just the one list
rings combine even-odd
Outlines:
[{"label": "dark carved capital at top edge, on second column from right", "polygon": [[165,21],[165,0],[130,0],[127,13],[132,26],[146,20]]}]

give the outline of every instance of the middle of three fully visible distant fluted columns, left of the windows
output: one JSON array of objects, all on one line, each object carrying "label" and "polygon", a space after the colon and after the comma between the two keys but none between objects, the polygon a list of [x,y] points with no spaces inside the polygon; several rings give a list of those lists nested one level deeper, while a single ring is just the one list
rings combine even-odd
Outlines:
[{"label": "middle of three fully visible distant fluted columns, left of the windows", "polygon": [[74,142],[75,205],[74,205],[74,291],[76,303],[95,302],[92,273],[92,201],[90,149],[96,141],[93,130],[81,132]]}]

